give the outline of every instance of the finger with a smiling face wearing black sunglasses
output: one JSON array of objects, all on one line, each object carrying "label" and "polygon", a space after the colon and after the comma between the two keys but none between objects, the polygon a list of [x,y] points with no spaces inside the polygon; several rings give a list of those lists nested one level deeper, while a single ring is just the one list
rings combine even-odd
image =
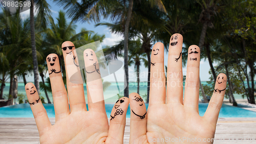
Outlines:
[{"label": "finger with a smiling face wearing black sunglasses", "polygon": [[61,47],[67,72],[66,77],[70,111],[86,111],[86,100],[84,98],[83,82],[75,45],[71,41],[65,41],[62,43]]}]

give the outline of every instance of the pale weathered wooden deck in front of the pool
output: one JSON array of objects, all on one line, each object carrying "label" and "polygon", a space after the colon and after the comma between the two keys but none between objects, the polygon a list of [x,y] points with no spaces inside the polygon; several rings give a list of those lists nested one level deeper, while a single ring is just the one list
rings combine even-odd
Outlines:
[{"label": "pale weathered wooden deck in front of the pool", "polygon": [[[55,118],[50,121],[54,124]],[[130,118],[127,118],[124,143],[129,143],[129,134]],[[228,141],[236,137],[237,142]],[[256,118],[219,118],[214,143],[256,143],[256,140],[245,141],[242,137],[256,138]],[[39,143],[34,118],[0,118],[0,143]]]}]

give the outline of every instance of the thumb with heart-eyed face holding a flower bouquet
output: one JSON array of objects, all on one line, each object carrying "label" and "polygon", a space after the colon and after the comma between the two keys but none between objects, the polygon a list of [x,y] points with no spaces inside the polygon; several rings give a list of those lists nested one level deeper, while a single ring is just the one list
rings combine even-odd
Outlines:
[{"label": "thumb with heart-eyed face holding a flower bouquet", "polygon": [[[122,97],[114,105],[110,115],[109,135],[106,142],[123,143],[126,112],[129,106],[129,98]],[[109,139],[110,138],[110,139]]]}]

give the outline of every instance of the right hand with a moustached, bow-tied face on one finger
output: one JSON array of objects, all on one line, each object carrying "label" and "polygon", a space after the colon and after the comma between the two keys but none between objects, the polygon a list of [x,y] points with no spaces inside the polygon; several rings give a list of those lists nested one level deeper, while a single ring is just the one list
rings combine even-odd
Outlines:
[{"label": "right hand with a moustached, bow-tied face on one finger", "polygon": [[[170,39],[167,88],[164,74],[164,46],[158,42],[152,51],[150,100],[146,113],[137,93],[130,94],[130,143],[191,143],[194,139],[213,143],[219,112],[224,99],[226,75],[219,74],[204,116],[199,115],[200,49],[188,49],[187,74],[183,101],[182,35]],[[158,53],[158,54],[157,54]],[[166,93],[165,93],[166,89]],[[145,114],[146,113],[146,114]],[[141,117],[145,114],[145,117]],[[190,141],[190,140],[191,141]],[[210,142],[209,142],[210,141]]]}]

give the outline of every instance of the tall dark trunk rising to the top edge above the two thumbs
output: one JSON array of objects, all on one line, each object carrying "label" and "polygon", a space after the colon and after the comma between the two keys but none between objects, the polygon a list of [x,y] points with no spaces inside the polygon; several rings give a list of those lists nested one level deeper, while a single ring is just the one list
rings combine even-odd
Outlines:
[{"label": "tall dark trunk rising to the top edge above the two thumbs", "polygon": [[124,71],[126,77],[126,88],[124,89],[124,97],[129,97],[129,66],[128,66],[128,39],[129,39],[129,25],[133,11],[133,0],[130,0],[128,13],[124,26]]}]

